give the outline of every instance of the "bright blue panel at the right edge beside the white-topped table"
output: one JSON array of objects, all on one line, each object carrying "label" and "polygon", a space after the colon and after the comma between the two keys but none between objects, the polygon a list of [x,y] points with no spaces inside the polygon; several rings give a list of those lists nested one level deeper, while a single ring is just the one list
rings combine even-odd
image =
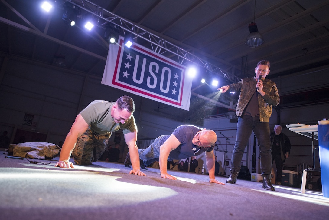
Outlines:
[{"label": "bright blue panel at the right edge beside the white-topped table", "polygon": [[319,157],[323,197],[329,198],[329,124],[318,125]]}]

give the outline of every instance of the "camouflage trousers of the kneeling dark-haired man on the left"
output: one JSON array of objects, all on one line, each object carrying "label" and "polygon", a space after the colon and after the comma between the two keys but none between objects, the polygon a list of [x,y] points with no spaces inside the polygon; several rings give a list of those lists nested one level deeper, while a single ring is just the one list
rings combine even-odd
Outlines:
[{"label": "camouflage trousers of the kneeling dark-haired man on the left", "polygon": [[106,150],[106,145],[109,141],[110,134],[96,135],[90,129],[81,135],[75,148],[72,151],[72,156],[78,165],[91,165],[96,162]]}]

